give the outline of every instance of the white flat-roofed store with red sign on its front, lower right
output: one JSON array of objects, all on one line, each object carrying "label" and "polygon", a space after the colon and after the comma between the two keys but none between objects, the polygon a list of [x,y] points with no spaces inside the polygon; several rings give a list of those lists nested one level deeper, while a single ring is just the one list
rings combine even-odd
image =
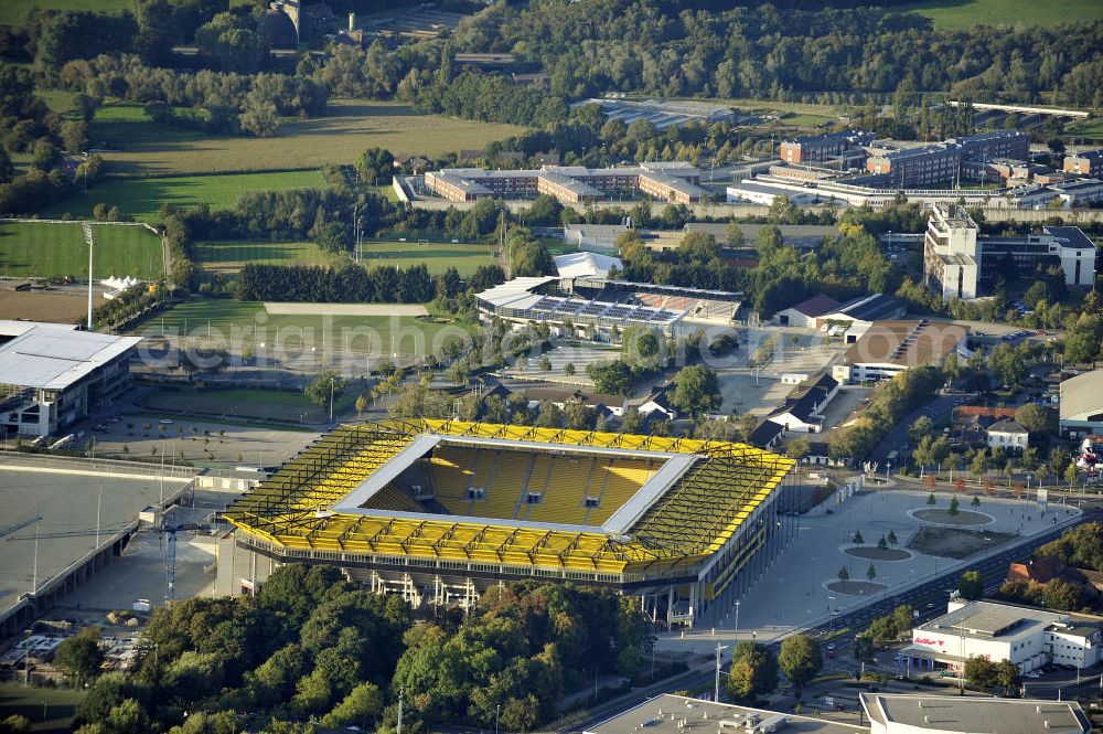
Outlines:
[{"label": "white flat-roofed store with red sign on its front, lower right", "polygon": [[1089,668],[1103,660],[1103,632],[1063,611],[995,602],[951,602],[950,611],[912,629],[901,652],[910,670],[959,672],[981,657],[1029,672],[1056,663]]}]

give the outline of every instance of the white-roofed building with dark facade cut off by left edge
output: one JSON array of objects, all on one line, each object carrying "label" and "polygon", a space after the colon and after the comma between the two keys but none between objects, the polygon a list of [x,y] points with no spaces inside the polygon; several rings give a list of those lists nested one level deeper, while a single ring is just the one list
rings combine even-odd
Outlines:
[{"label": "white-roofed building with dark facade cut off by left edge", "polygon": [[0,426],[56,435],[110,400],[130,377],[139,337],[77,331],[66,323],[0,321]]}]

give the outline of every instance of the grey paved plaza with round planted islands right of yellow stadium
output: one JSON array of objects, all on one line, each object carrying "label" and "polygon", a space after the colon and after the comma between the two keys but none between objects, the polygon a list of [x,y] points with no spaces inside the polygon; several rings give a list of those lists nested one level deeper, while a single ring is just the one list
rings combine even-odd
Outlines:
[{"label": "grey paved plaza with round planted islands right of yellow stadium", "polygon": [[[806,514],[783,517],[786,544],[740,596],[738,627],[732,608],[715,623],[711,618],[698,623],[694,632],[708,637],[715,626],[717,636],[750,637],[753,630],[759,640],[775,639],[826,623],[831,608],[836,615],[846,614],[891,598],[936,574],[975,562],[978,554],[1003,551],[1080,517],[1080,510],[1063,504],[1050,503],[1042,512],[1032,499],[982,497],[974,508],[972,496],[960,494],[961,510],[954,518],[946,511],[951,496],[935,492],[936,504],[931,508],[925,491],[867,489],[842,503],[832,496]],[[924,515],[938,522],[923,520]],[[977,524],[964,524],[974,521]],[[861,544],[853,542],[856,531],[861,533]],[[888,552],[879,551],[878,540],[890,531],[898,542]],[[953,557],[973,549],[964,557]],[[870,564],[876,571],[871,581],[867,577]],[[843,567],[849,575],[847,583],[839,582]],[[960,573],[946,577],[947,587],[956,585],[959,577]],[[660,649],[682,642],[677,628],[663,637]]]}]

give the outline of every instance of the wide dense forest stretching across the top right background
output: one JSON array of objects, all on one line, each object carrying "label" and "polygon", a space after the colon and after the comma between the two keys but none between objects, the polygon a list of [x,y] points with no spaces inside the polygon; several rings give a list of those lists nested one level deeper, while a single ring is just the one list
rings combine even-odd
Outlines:
[{"label": "wide dense forest stretching across the top right background", "polygon": [[[569,100],[608,92],[844,104],[867,94],[914,102],[924,93],[1040,102],[1052,92],[1046,100],[1099,105],[1097,33],[1099,23],[951,31],[876,7],[500,3],[462,21],[447,41],[343,51],[317,74],[343,94],[537,126],[561,119]],[[1052,53],[1057,46],[1061,53]],[[550,74],[552,94],[457,68],[457,51],[513,52]]]}]

